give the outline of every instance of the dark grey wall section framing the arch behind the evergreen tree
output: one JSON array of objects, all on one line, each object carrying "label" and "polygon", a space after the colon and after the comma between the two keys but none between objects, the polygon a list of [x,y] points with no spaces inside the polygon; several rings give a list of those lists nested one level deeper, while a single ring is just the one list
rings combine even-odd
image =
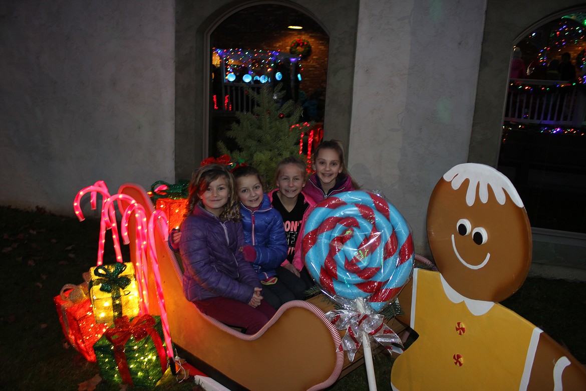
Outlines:
[{"label": "dark grey wall section framing the arch behind the evergreen tree", "polygon": [[210,35],[233,13],[255,5],[289,6],[319,21],[329,35],[325,133],[349,144],[358,0],[175,0],[175,176],[190,178],[209,156]]}]

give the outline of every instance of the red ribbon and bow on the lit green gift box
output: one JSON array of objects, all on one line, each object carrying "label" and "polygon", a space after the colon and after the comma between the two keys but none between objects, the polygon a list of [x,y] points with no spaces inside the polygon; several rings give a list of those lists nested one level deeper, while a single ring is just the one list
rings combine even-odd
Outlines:
[{"label": "red ribbon and bow on the lit green gift box", "polygon": [[134,341],[138,342],[150,335],[152,342],[155,344],[156,352],[159,355],[159,360],[161,361],[161,372],[164,373],[167,369],[165,348],[163,348],[161,336],[154,328],[155,323],[155,318],[152,315],[135,317],[132,319],[132,322],[128,321],[128,317],[124,315],[114,319],[114,328],[109,328],[104,333],[108,341],[114,345],[114,358],[116,359],[122,382],[132,385],[128,361],[124,352],[124,345],[131,336],[134,336]]}]

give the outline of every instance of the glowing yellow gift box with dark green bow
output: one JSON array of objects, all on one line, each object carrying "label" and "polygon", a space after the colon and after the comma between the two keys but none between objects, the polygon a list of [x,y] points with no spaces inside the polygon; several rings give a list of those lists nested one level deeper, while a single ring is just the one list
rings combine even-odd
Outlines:
[{"label": "glowing yellow gift box with dark green bow", "polygon": [[107,323],[139,312],[137,280],[131,262],[90,268],[90,298],[96,322]]}]

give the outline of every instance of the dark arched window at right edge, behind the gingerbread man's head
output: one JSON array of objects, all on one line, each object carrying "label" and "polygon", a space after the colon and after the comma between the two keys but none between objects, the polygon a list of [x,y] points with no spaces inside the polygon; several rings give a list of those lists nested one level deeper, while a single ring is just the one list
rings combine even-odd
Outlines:
[{"label": "dark arched window at right edge, behind the gingerbread man's head", "polygon": [[550,19],[515,42],[498,169],[537,229],[586,234],[585,19]]}]

